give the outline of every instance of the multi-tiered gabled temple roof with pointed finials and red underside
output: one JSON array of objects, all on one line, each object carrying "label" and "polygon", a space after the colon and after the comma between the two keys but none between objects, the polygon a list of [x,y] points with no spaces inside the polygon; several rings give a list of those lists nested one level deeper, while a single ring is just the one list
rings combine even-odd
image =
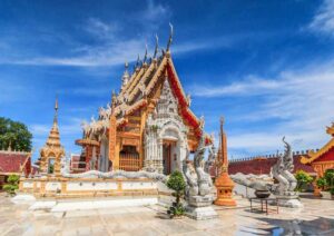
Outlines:
[{"label": "multi-tiered gabled temple roof with pointed finials and red underside", "polygon": [[[128,71],[128,63],[125,63],[125,72],[121,77],[121,89],[119,94],[112,92],[111,105],[107,105],[106,108],[99,109],[99,117],[97,120],[91,119],[90,124],[84,122],[84,132],[89,136],[91,132],[105,131],[109,128],[109,119],[111,114],[116,117],[117,127],[128,124],[128,116],[131,116],[141,108],[154,106],[157,100],[158,81],[161,77],[169,78],[170,87],[179,105],[179,115],[187,122],[186,125],[195,130],[196,136],[202,134],[202,120],[198,119],[190,110],[190,96],[186,95],[180,80],[177,76],[171,56],[170,43],[173,37],[173,30],[168,40],[168,45],[165,50],[160,50],[158,40],[156,40],[156,47],[154,56],[148,58],[147,48],[144,59],[140,60],[139,56],[135,65],[134,72],[130,75]],[[148,101],[151,100],[153,104]],[[112,107],[112,109],[111,109]],[[79,145],[98,145],[94,140],[80,139],[77,140]]]}]

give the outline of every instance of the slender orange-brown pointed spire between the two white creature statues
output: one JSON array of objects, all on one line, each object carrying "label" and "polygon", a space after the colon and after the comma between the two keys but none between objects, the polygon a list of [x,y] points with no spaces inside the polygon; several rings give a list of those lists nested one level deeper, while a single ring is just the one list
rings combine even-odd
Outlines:
[{"label": "slender orange-brown pointed spire between the two white creature statues", "polygon": [[215,186],[217,188],[217,199],[215,205],[218,206],[236,206],[235,199],[232,198],[234,183],[228,175],[228,160],[227,160],[227,141],[226,134],[224,132],[224,118],[220,118],[220,132],[219,132],[219,149],[217,155],[216,165],[218,167],[218,177],[216,178]]}]

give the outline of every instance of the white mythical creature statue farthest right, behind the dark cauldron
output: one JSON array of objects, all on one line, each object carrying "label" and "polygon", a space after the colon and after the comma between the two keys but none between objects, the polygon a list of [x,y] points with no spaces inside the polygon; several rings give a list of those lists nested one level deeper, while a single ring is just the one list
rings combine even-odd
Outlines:
[{"label": "white mythical creature statue farthest right, behind the dark cauldron", "polygon": [[283,137],[282,140],[285,146],[285,151],[284,155],[279,155],[277,163],[272,167],[271,174],[279,183],[275,193],[286,195],[287,193],[294,191],[297,186],[297,180],[292,174],[294,164],[291,145],[285,141],[285,137]]}]

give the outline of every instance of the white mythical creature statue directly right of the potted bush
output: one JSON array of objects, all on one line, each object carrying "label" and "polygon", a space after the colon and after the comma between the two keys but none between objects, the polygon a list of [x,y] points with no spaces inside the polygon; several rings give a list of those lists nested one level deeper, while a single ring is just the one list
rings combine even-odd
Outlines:
[{"label": "white mythical creature statue directly right of the potted bush", "polygon": [[212,193],[213,180],[210,176],[204,171],[202,165],[205,149],[205,135],[203,134],[194,155],[194,167],[188,160],[188,157],[184,160],[183,170],[187,180],[186,197],[205,196]]}]

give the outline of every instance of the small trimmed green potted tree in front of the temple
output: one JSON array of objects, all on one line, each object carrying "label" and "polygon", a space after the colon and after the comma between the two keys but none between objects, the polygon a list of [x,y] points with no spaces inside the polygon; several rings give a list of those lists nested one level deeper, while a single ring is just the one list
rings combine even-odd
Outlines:
[{"label": "small trimmed green potted tree in front of the temple", "polygon": [[173,189],[173,196],[175,197],[175,201],[167,210],[167,214],[171,218],[180,218],[185,214],[185,207],[181,204],[181,197],[185,194],[186,181],[180,171],[175,170],[167,181],[167,187]]}]

